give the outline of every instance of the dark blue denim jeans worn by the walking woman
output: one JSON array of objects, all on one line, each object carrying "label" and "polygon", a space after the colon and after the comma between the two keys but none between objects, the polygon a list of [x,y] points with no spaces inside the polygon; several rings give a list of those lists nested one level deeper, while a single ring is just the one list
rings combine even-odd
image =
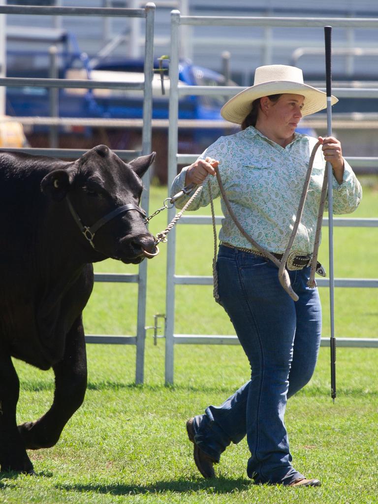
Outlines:
[{"label": "dark blue denim jeans worn by the walking woman", "polygon": [[269,260],[220,245],[220,302],[249,360],[251,379],[220,407],[195,418],[195,440],[219,461],[231,443],[247,436],[247,474],[257,483],[290,484],[303,475],[291,465],[284,423],[287,398],[310,380],[319,352],[322,312],[318,289],[306,283],[310,268],[290,271],[294,302]]}]

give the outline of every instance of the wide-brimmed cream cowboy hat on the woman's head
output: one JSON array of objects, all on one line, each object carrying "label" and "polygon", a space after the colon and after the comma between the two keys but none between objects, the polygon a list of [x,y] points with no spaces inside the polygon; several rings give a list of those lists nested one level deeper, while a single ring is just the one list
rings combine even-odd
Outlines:
[{"label": "wide-brimmed cream cowboy hat on the woman's head", "polygon": [[[254,100],[278,93],[304,96],[303,115],[313,114],[327,108],[326,93],[304,84],[300,68],[288,67],[287,65],[266,65],[256,69],[253,86],[244,89],[223,105],[221,115],[227,121],[241,124],[251,111]],[[336,96],[332,96],[332,105],[338,101]]]}]

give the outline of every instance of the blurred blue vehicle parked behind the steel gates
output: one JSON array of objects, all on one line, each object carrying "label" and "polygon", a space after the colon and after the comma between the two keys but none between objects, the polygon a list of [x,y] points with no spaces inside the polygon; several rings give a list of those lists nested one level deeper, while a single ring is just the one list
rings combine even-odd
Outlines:
[{"label": "blurred blue vehicle parked behind the steel gates", "polygon": [[[7,76],[47,78],[50,76],[50,60],[46,44],[58,47],[57,77],[118,82],[142,82],[142,59],[92,58],[82,53],[75,36],[66,30],[46,30],[40,34],[20,34],[20,30],[8,34],[13,48],[7,53]],[[13,42],[13,44],[12,44]],[[17,45],[17,43],[18,45]],[[20,42],[23,42],[20,45]],[[26,43],[25,43],[26,42]],[[44,45],[43,50],[36,47]],[[25,50],[25,47],[31,47]],[[154,68],[159,67],[158,60]],[[165,88],[169,89],[168,62],[163,60]],[[182,61],[179,68],[180,82],[187,85],[224,85],[221,74],[197,67],[190,61]],[[168,94],[161,92],[160,72],[155,74],[153,118],[168,118]],[[7,113],[14,116],[50,115],[49,90],[35,87],[8,87]],[[60,117],[111,117],[141,118],[143,94],[122,90],[59,89]],[[185,119],[220,119],[219,110],[224,103],[221,97],[187,96],[180,100],[179,117]]]}]

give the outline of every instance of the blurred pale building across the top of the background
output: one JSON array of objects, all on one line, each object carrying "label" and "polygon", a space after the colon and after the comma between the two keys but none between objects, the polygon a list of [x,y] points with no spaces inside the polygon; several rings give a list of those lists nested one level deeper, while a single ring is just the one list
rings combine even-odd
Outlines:
[{"label": "blurred pale building across the top of the background", "polygon": [[[4,0],[5,2],[7,0]],[[140,0],[8,0],[19,5],[61,5],[76,7],[143,7]],[[155,55],[169,54],[170,12],[195,16],[273,16],[273,17],[378,17],[376,0],[155,0]],[[8,32],[41,34],[47,28],[61,28],[73,32],[80,50],[94,56],[114,37],[124,35],[124,43],[116,54],[128,57],[143,55],[144,26],[141,19],[7,16]],[[19,28],[15,28],[19,27]],[[8,48],[22,46],[9,39]],[[378,30],[334,29],[333,74],[337,79],[378,80]],[[28,43],[28,49],[33,47]],[[318,48],[319,54],[309,54]],[[324,75],[324,35],[322,28],[256,28],[256,27],[182,27],[182,57],[196,64],[222,70],[222,53],[229,51],[231,75],[241,85],[249,85],[255,68],[270,63],[295,64],[304,71],[307,80],[319,80]],[[337,55],[342,48],[343,55]],[[361,55],[345,54],[360,48]],[[366,54],[366,49],[368,53]]]}]

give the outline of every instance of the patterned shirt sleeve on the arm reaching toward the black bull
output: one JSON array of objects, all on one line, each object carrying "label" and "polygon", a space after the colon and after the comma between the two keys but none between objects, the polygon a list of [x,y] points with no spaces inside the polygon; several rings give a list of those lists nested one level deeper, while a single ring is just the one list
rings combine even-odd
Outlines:
[{"label": "patterned shirt sleeve on the arm reaching toward the black bull", "polygon": [[[220,151],[220,146],[222,144],[222,139],[223,137],[220,137],[216,142],[214,142],[210,147],[208,147],[202,154],[199,156],[198,159],[206,159],[207,157],[211,157],[219,161],[219,172],[222,176],[222,172],[224,171],[222,168],[224,166],[224,159],[221,155]],[[171,191],[170,195],[171,197],[177,194],[179,191],[181,191],[184,186],[185,186],[185,176],[186,176],[186,171],[189,167],[185,166],[182,168],[181,172],[174,178],[172,185],[171,185]],[[222,181],[223,176],[222,176]],[[201,193],[197,196],[197,198],[191,203],[190,207],[187,208],[187,210],[198,210],[200,207],[206,207],[210,203],[210,191],[211,191],[211,197],[212,199],[218,198],[220,195],[220,190],[219,190],[219,185],[217,182],[217,177],[215,175],[208,175],[205,180],[202,182],[202,191]],[[210,188],[209,188],[210,186]],[[193,196],[195,193],[196,189],[199,186],[196,186],[193,188],[193,190],[188,193],[187,195],[183,195],[182,198],[177,200],[174,203],[174,206],[176,208],[182,208]]]}]

